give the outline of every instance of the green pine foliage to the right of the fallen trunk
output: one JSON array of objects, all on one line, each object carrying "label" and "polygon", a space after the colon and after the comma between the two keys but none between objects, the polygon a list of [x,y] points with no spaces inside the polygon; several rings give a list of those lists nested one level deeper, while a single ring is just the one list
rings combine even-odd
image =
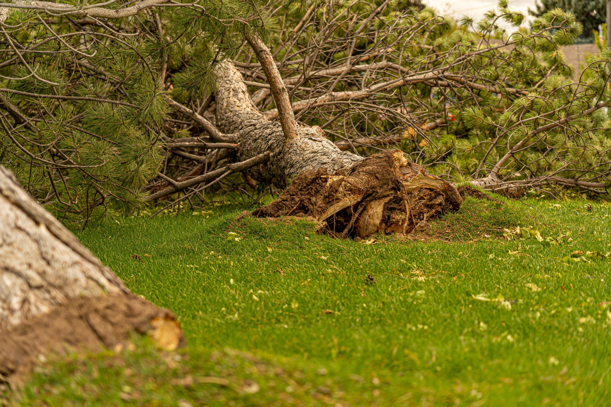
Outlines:
[{"label": "green pine foliage to the right of the fallen trunk", "polygon": [[[302,31],[297,40],[289,42],[291,46],[284,46],[277,54],[278,60],[309,57],[315,68],[285,63],[284,76],[295,76],[303,69],[315,71],[325,63],[346,63],[349,49],[340,46],[340,42],[349,43],[351,40],[346,38],[354,38],[360,24],[342,16],[356,15],[354,20],[366,21],[373,5],[339,2],[332,16],[325,12],[328,10],[321,8],[310,29]],[[302,12],[289,13],[281,25],[295,26],[301,16]],[[329,32],[324,23],[331,20],[337,22],[334,31]],[[456,79],[441,78],[450,81],[444,86],[422,81],[372,95],[362,103],[368,103],[365,107],[354,101],[349,108],[312,109],[312,113],[302,112],[299,117],[308,124],[324,126],[332,139],[399,135],[398,146],[410,159],[453,181],[489,175],[494,164],[522,142],[524,148],[518,146],[518,151],[499,169],[501,179],[553,174],[604,183],[611,170],[606,109],[584,112],[609,100],[609,52],[591,57],[582,82],[577,84],[574,68],[566,65],[561,47],[574,43],[582,34],[584,27],[579,18],[562,9],[552,9],[532,21],[531,31],[519,29],[511,35],[499,24],[505,21],[518,27],[524,20],[522,13],[508,7],[508,1],[500,1],[497,9],[486,13],[481,21],[464,18],[459,23],[430,8],[401,12],[391,5],[362,29],[367,35],[354,38],[352,55],[392,51],[383,51],[384,57],[356,65],[389,61],[400,64],[406,76],[436,71],[446,78],[455,75]],[[312,49],[310,38],[323,36],[323,45],[312,57],[305,51]],[[504,38],[509,45],[489,38]],[[287,41],[288,38],[280,38],[279,42]],[[397,77],[397,71],[388,70],[369,76],[346,75],[327,90],[359,90]],[[489,88],[470,88],[461,80]],[[321,79],[318,84],[324,87],[332,82],[325,81]],[[304,98],[311,97],[305,93]],[[267,106],[274,107],[272,103]],[[264,104],[264,109],[267,106]],[[540,131],[542,126],[565,118],[571,120]],[[426,124],[439,119],[445,123],[426,129]],[[365,155],[377,151],[362,146],[354,150]]]}]

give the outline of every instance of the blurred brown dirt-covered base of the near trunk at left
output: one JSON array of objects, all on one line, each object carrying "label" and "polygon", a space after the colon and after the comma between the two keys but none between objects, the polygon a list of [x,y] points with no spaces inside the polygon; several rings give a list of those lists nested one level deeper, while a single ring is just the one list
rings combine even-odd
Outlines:
[{"label": "blurred brown dirt-covered base of the near trunk at left", "polygon": [[137,295],[80,297],[0,333],[0,381],[19,386],[44,355],[114,348],[130,333],[149,334],[167,350],[185,345],[174,314]]}]

